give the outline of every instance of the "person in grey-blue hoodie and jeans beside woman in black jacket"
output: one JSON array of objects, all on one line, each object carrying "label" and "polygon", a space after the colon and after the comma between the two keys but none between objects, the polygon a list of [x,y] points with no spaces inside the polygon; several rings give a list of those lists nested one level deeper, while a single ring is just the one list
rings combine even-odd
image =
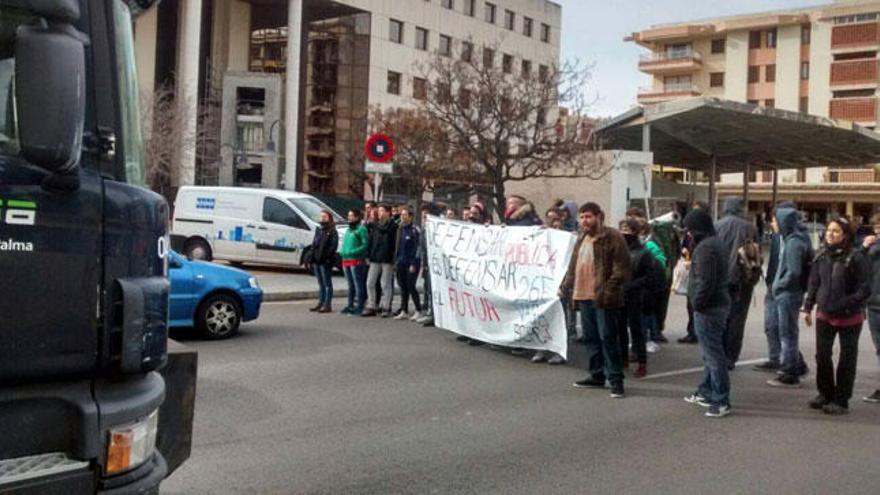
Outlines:
[{"label": "person in grey-blue hoodie and jeans beside woman in black jacket", "polygon": [[796,209],[776,209],[779,228],[779,255],[770,291],[776,306],[782,361],[780,375],[767,384],[771,387],[800,387],[800,377],[807,374],[807,364],[798,349],[798,309],[810,276],[813,259],[810,238],[800,223]]}]

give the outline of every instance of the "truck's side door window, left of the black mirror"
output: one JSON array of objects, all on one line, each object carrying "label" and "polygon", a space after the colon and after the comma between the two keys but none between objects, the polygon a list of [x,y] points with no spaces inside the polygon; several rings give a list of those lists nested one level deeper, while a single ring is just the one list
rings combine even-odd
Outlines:
[{"label": "truck's side door window, left of the black mirror", "polygon": [[15,113],[15,32],[33,20],[26,10],[0,2],[0,155],[18,154]]}]

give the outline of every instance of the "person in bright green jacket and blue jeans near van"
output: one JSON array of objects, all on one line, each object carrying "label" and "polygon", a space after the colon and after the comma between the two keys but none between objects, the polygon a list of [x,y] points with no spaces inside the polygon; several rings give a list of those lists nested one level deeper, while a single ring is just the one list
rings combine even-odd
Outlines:
[{"label": "person in bright green jacket and blue jeans near van", "polygon": [[367,249],[370,235],[360,210],[348,210],[348,230],[342,240],[342,271],[348,282],[348,305],[342,314],[360,316],[367,300]]}]

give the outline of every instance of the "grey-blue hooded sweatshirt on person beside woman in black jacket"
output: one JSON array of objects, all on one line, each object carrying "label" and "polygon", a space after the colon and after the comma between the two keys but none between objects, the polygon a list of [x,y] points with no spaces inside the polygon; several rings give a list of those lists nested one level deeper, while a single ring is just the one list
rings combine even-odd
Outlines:
[{"label": "grey-blue hooded sweatshirt on person beside woman in black jacket", "polygon": [[800,297],[807,288],[809,264],[813,257],[810,238],[798,220],[797,210],[783,207],[776,210],[779,224],[779,254],[773,278],[773,297],[793,294]]}]

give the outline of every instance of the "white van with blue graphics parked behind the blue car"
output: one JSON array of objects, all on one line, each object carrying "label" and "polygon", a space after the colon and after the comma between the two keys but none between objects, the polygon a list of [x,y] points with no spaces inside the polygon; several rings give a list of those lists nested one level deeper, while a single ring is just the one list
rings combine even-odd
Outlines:
[{"label": "white van with blue graphics parked behind the blue car", "polygon": [[[299,266],[325,209],[333,211],[293,191],[184,186],[174,201],[171,245],[191,259]],[[341,249],[347,225],[333,218]]]}]

